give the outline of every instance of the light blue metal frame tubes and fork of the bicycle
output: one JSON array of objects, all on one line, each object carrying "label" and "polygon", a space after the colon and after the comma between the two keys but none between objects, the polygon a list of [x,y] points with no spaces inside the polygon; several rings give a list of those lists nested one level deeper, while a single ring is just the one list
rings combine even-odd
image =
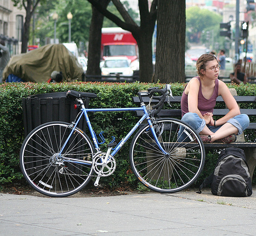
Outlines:
[{"label": "light blue metal frame tubes and fork of the bicycle", "polygon": [[113,152],[110,154],[112,157],[114,157],[116,155],[116,153],[119,151],[119,149],[123,146],[123,144],[132,136],[132,134],[137,130],[137,128],[139,127],[139,125],[143,122],[144,119],[147,120],[148,124],[150,125],[150,128],[151,128],[151,132],[155,138],[155,141],[157,143],[157,145],[159,146],[159,148],[161,149],[161,151],[163,152],[163,154],[167,154],[162,145],[160,144],[158,138],[157,138],[157,135],[156,135],[156,132],[153,128],[153,124],[150,120],[150,117],[149,117],[149,114],[146,110],[146,106],[144,103],[141,103],[141,107],[140,108],[104,108],[104,109],[86,109],[82,100],[81,99],[78,99],[78,102],[81,104],[81,113],[79,115],[79,117],[77,118],[77,121],[76,123],[74,124],[74,127],[73,127],[73,130],[72,132],[70,133],[69,137],[67,138],[65,144],[63,145],[63,147],[61,148],[61,151],[59,152],[59,154],[62,153],[63,149],[65,148],[69,138],[71,137],[71,135],[73,134],[77,124],[79,123],[80,119],[82,118],[82,116],[84,115],[84,117],[86,118],[86,121],[87,121],[87,125],[88,125],[88,128],[89,128],[89,131],[90,131],[90,134],[92,136],[92,139],[93,139],[93,143],[95,145],[95,148],[97,151],[99,151],[99,145],[98,145],[98,142],[97,142],[97,138],[95,136],[95,133],[93,131],[93,127],[91,125],[91,122],[90,122],[90,119],[88,117],[88,112],[127,112],[127,111],[143,111],[144,115],[140,118],[140,120],[134,125],[134,127],[132,128],[132,130],[115,146],[115,148],[113,148]]}]

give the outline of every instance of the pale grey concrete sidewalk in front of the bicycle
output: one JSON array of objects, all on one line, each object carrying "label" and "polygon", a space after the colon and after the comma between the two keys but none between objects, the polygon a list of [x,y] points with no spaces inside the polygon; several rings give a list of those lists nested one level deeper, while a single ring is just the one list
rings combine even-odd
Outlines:
[{"label": "pale grey concrete sidewalk in front of the bicycle", "polygon": [[[253,189],[254,192],[256,189]],[[256,235],[256,192],[48,198],[0,195],[0,235]]]}]

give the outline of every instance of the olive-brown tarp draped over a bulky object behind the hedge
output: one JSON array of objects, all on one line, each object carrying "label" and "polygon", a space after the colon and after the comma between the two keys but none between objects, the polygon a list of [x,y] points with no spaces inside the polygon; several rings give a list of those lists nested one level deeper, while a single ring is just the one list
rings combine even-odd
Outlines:
[{"label": "olive-brown tarp draped over a bulky object behind the hedge", "polygon": [[14,74],[25,81],[45,82],[53,71],[61,71],[63,80],[82,79],[83,69],[77,58],[62,44],[51,44],[28,53],[12,56],[3,78]]}]

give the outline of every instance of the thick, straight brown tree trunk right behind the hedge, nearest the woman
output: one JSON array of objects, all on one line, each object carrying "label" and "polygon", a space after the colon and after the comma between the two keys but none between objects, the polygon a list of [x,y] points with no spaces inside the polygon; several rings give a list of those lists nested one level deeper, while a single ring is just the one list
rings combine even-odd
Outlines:
[{"label": "thick, straight brown tree trunk right behind the hedge, nearest the woman", "polygon": [[185,0],[158,2],[154,82],[185,81]]}]

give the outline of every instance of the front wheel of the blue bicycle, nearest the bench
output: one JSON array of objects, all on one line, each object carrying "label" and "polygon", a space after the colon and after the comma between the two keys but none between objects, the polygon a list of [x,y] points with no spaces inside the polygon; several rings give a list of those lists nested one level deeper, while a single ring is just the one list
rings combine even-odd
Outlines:
[{"label": "front wheel of the blue bicycle, nearest the bench", "polygon": [[[135,176],[157,192],[186,189],[197,180],[204,166],[201,138],[194,128],[177,119],[161,118],[153,127],[167,154],[157,145],[149,125],[140,128],[130,147],[130,164]],[[185,139],[181,138],[184,136]]]}]

